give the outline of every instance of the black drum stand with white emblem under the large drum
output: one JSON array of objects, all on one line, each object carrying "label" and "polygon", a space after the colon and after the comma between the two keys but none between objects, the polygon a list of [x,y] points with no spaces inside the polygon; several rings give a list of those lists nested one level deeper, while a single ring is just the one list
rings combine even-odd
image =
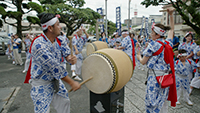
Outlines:
[{"label": "black drum stand with white emblem under the large drum", "polygon": [[90,91],[90,113],[124,113],[124,87],[108,94]]}]

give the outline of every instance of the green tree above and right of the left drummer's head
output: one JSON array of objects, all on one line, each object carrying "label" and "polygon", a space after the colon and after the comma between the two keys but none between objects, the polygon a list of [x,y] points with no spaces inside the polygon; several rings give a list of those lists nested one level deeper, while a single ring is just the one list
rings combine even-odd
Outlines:
[{"label": "green tree above and right of the left drummer's head", "polygon": [[61,23],[67,27],[67,36],[73,34],[82,24],[95,25],[100,15],[90,8],[82,8],[84,0],[39,0],[46,12],[59,14]]}]

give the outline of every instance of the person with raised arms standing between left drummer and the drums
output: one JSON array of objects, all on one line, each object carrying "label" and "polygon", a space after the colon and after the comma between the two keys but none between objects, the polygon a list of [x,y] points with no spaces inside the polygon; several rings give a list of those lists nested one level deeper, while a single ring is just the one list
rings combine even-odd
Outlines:
[{"label": "person with raised arms standing between left drummer and the drums", "polygon": [[[83,35],[83,32],[85,33],[85,36]],[[77,57],[77,62],[74,65],[71,65],[71,70],[72,70],[72,78],[74,80],[81,81],[82,79],[78,76],[81,75],[81,66],[83,62],[83,56],[82,56],[82,50],[83,46],[86,44],[88,40],[89,35],[85,31],[85,29],[80,28],[77,29],[76,34],[74,35],[72,39],[72,46],[73,46],[73,53]]]}]

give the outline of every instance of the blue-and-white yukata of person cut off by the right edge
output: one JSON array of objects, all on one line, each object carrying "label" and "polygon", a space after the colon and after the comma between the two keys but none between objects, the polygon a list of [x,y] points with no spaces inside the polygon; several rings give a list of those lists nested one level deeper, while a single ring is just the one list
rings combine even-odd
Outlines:
[{"label": "blue-and-white yukata of person cut off by the right edge", "polygon": [[[194,57],[196,57],[196,59],[198,60],[197,66],[200,67],[200,56],[197,56],[197,52],[200,51],[200,45],[196,46],[196,48],[194,49]],[[200,88],[200,73],[198,71],[198,69],[196,70],[195,76],[192,79],[190,86],[195,87],[195,88]]]}]

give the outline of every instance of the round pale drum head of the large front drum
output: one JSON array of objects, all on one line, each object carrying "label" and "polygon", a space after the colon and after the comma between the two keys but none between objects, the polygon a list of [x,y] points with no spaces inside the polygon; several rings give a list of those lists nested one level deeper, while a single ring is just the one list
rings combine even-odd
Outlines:
[{"label": "round pale drum head of the large front drum", "polygon": [[82,65],[82,77],[84,80],[93,76],[86,83],[89,90],[96,94],[106,93],[113,84],[113,70],[108,60],[99,54],[91,54]]}]

